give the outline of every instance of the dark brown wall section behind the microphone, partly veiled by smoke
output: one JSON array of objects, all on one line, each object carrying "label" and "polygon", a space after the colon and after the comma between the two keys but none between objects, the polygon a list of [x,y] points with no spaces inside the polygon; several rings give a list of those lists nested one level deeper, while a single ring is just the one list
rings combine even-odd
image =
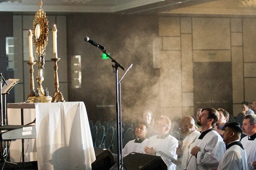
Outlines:
[{"label": "dark brown wall section behind the microphone, partly veiled by smoke", "polygon": [[[145,108],[155,110],[159,105],[157,102],[150,105],[145,102],[155,97],[154,92],[149,93],[149,90],[159,77],[159,70],[153,68],[152,58],[152,41],[158,36],[157,16],[67,16],[68,63],[71,63],[71,56],[81,55],[82,67],[82,88],[69,87],[69,101],[84,101],[89,119],[104,121],[115,118],[116,114],[113,63],[111,60],[102,60],[100,49],[84,41],[86,36],[105,46],[112,58],[126,69],[133,63],[133,68],[126,74],[121,86],[123,117],[137,118]],[[71,71],[70,64],[68,71]],[[125,72],[119,68],[118,73],[121,78]]]}]

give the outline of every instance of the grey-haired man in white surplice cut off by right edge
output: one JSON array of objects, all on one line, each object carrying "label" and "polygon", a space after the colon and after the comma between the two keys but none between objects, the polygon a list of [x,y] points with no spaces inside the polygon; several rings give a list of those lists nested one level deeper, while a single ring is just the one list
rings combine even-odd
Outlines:
[{"label": "grey-haired man in white surplice cut off by right edge", "polygon": [[246,149],[248,169],[256,168],[256,115],[247,114],[244,116],[243,133],[247,136],[242,138],[241,143]]}]

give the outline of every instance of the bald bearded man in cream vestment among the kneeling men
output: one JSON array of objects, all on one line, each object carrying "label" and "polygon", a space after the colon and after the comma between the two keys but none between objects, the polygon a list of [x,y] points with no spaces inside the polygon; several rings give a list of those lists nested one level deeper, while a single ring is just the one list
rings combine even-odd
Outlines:
[{"label": "bald bearded man in cream vestment among the kneeling men", "polygon": [[195,121],[190,116],[182,118],[179,129],[182,131],[184,139],[182,141],[183,145],[176,150],[176,154],[180,157],[179,160],[181,160],[181,164],[177,169],[184,170],[189,162],[189,158],[192,156],[190,154],[192,147],[190,146],[201,133],[196,130]]}]

